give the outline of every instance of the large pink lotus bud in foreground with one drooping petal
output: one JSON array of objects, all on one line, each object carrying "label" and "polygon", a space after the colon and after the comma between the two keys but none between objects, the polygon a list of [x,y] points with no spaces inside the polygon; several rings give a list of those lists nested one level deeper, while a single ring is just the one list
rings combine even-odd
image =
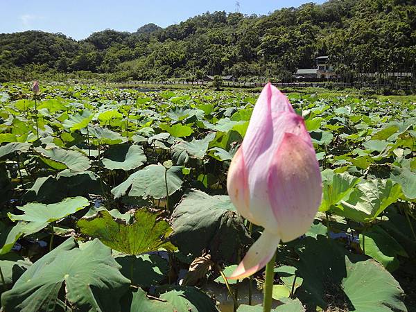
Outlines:
[{"label": "large pink lotus bud in foreground with one drooping petal", "polygon": [[243,279],[266,266],[279,241],[306,233],[318,211],[322,180],[311,137],[302,116],[270,83],[229,166],[227,189],[239,213],[264,227],[231,279]]}]

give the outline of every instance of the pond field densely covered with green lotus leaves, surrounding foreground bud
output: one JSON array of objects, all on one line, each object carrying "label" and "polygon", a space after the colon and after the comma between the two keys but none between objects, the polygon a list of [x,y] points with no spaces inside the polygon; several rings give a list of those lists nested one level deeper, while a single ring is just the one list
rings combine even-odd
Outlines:
[{"label": "pond field densely covered with green lotus leaves, surrounding foreground bud", "polygon": [[[3,311],[262,311],[259,237],[227,196],[259,94],[0,87]],[[279,245],[275,311],[416,311],[411,101],[288,94],[323,181]]]}]

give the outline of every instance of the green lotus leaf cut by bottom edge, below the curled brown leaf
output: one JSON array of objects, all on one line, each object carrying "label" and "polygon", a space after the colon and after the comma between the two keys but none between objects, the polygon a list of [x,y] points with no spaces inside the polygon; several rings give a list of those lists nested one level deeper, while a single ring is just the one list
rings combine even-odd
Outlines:
[{"label": "green lotus leaf cut by bottom edge, below the curled brown leaf", "polygon": [[[215,301],[191,286],[162,286],[157,289],[162,300],[167,300],[177,312],[218,312]],[[139,311],[139,310],[137,310]]]}]

